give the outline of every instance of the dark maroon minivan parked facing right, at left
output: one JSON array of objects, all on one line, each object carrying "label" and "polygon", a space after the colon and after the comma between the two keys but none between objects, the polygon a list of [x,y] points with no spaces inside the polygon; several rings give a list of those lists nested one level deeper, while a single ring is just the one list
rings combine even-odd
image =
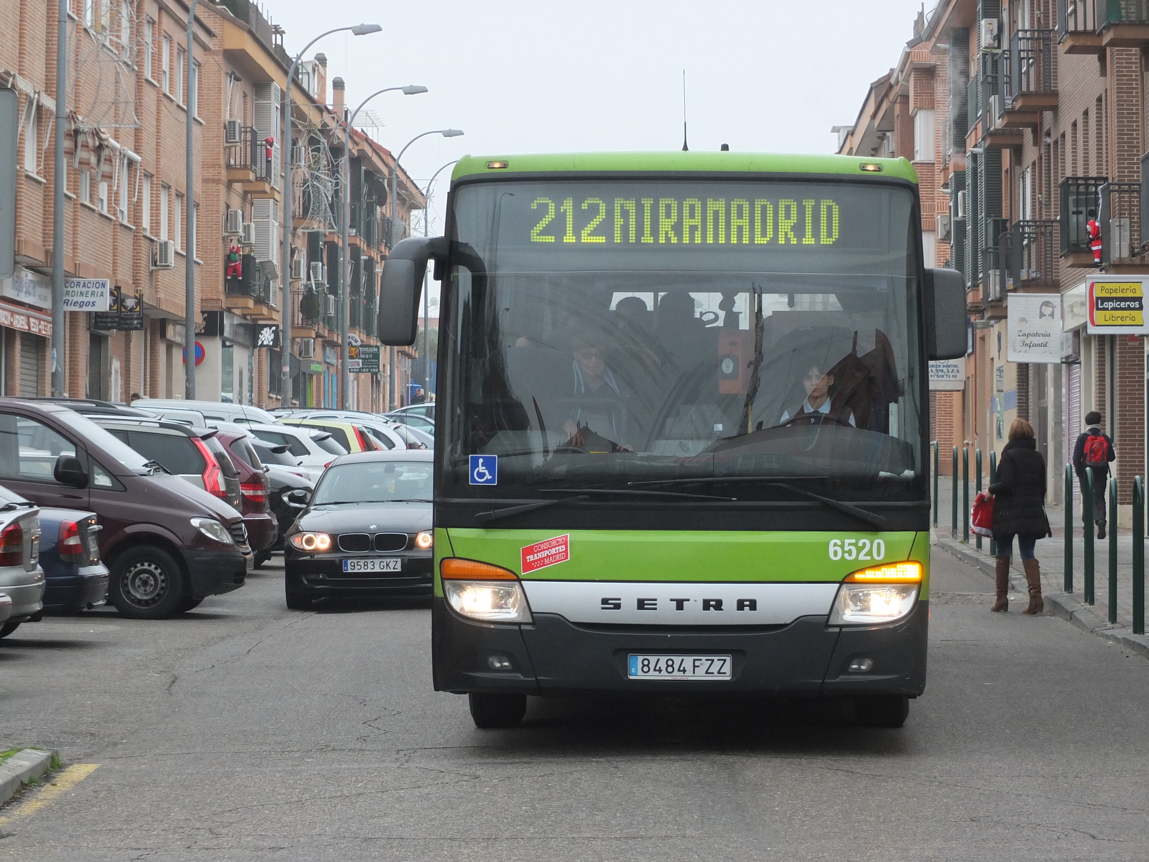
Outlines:
[{"label": "dark maroon minivan parked facing right, at left", "polygon": [[125,616],[191,610],[241,587],[252,565],[239,513],[67,407],[0,398],[0,484],[97,513],[108,599]]}]

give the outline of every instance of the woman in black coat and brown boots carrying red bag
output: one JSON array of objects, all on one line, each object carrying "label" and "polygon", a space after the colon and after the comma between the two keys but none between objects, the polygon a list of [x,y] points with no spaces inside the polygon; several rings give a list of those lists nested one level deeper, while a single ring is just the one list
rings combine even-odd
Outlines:
[{"label": "woman in black coat and brown boots carrying red bag", "polygon": [[995,498],[994,542],[997,545],[997,598],[993,610],[1009,609],[1009,559],[1016,536],[1030,587],[1030,606],[1021,613],[1040,614],[1044,603],[1034,546],[1038,539],[1051,533],[1046,517],[1046,459],[1038,452],[1033,425],[1025,420],[1015,420],[1010,425],[1009,442],[997,464],[997,480],[989,486],[989,493]]}]

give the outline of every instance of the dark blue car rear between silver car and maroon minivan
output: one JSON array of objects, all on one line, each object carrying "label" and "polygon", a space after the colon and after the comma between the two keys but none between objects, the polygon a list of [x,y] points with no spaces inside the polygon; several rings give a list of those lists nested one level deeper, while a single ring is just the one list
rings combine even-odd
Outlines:
[{"label": "dark blue car rear between silver car and maroon minivan", "polygon": [[108,600],[108,567],[100,562],[94,511],[40,509],[44,610],[69,614]]}]

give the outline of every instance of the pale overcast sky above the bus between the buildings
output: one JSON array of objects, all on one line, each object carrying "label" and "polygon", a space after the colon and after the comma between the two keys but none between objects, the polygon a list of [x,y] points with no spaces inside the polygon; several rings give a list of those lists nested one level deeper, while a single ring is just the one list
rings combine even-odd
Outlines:
[{"label": "pale overcast sky above the bus between the buildings", "polygon": [[[680,149],[686,70],[691,149],[833,152],[870,82],[897,62],[920,0],[261,0],[292,54],[324,30],[329,79],[370,103],[393,151],[417,141],[417,179],[463,154]],[[931,2],[931,7],[932,7]],[[440,175],[446,178],[448,171]],[[422,183],[421,183],[422,184]],[[447,183],[432,203],[441,230]]]}]

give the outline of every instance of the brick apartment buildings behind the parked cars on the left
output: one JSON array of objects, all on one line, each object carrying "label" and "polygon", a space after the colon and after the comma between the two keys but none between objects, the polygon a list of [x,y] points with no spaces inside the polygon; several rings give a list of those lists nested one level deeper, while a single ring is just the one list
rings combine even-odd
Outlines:
[{"label": "brick apartment buildings behind the parked cars on the left", "polygon": [[[291,60],[283,31],[255,3],[200,2],[193,48],[198,86],[191,87],[185,80],[186,2],[70,2],[69,117],[62,130],[64,270],[68,278],[107,279],[123,295],[139,295],[144,326],[100,330],[94,315],[65,311],[65,394],[117,401],[134,392],[183,397],[188,340],[185,255],[192,253],[195,341],[203,354],[196,395],[278,406],[279,351],[259,347],[255,334],[265,324],[280,323],[282,302],[291,301],[295,325],[285,340],[292,351],[293,399],[303,406],[334,406],[340,346],[348,329],[336,314],[340,283],[330,274],[339,268],[316,272],[310,267],[340,254],[337,160],[342,156],[342,110],[341,103],[326,103],[323,55],[304,63],[296,76],[296,137],[294,146],[282,146],[280,87]],[[13,34],[0,43],[0,86],[17,92],[21,110],[17,269],[0,283],[0,394],[43,395],[51,391],[55,2],[0,0],[0,26]],[[195,122],[194,249],[184,247],[188,110]],[[321,154],[325,163],[319,163]],[[390,153],[380,148],[370,155],[375,175],[390,176]],[[286,274],[279,272],[283,170],[291,174],[296,215],[293,264]],[[406,195],[399,217],[409,222],[423,198],[401,170],[400,177]],[[372,184],[371,195],[353,200],[353,220],[364,222],[353,226],[365,228],[383,217],[385,201],[373,194],[379,185]],[[353,180],[353,194],[361,188]],[[325,202],[317,202],[321,193]],[[324,209],[330,218],[318,224],[315,214]],[[323,241],[316,252],[317,231]],[[353,230],[357,290],[352,292],[349,331],[353,343],[357,338],[370,345],[378,344],[375,303],[386,246],[376,236],[373,245],[363,248],[364,232]],[[241,265],[229,278],[233,249]],[[367,259],[370,265],[356,263]],[[284,278],[290,291],[280,288]],[[314,297],[304,300],[308,294]],[[399,371],[388,368],[386,359],[384,352],[378,375],[352,376],[350,407],[387,408],[387,375]]]}]

